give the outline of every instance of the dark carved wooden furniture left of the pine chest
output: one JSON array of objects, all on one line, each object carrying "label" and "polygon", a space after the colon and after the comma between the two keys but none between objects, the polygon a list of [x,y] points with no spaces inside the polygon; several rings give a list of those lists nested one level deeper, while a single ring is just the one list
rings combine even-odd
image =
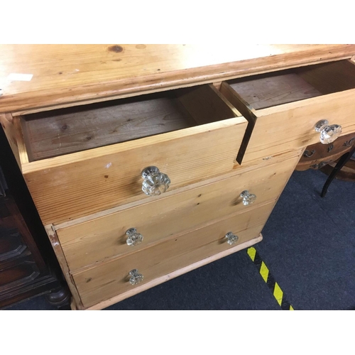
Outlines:
[{"label": "dark carved wooden furniture left of the pine chest", "polygon": [[0,129],[0,309],[41,294],[65,308],[69,290],[7,148]]}]

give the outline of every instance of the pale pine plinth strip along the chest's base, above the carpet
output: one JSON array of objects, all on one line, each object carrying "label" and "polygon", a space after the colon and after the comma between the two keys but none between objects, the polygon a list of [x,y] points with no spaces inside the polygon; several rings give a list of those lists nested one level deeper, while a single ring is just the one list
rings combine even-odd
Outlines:
[{"label": "pale pine plinth strip along the chest's base, above the carpet", "polygon": [[[184,273],[188,273],[189,271],[195,270],[196,268],[200,268],[201,266],[207,265],[208,263],[212,263],[212,261],[216,261],[220,258],[224,258],[224,256],[229,256],[232,253],[236,253],[236,251],[241,251],[242,249],[249,248],[250,246],[257,244],[262,240],[263,240],[263,236],[259,234],[259,236],[255,239],[244,241],[244,243],[238,244],[237,246],[231,247],[230,249],[226,249],[224,251],[221,251],[220,253],[204,258],[200,261],[197,261],[196,263],[192,263],[188,266],[185,266],[184,268],[180,268],[176,271],[173,271],[172,273],[163,275],[160,278],[155,278],[154,280],[149,281],[148,283],[143,283],[143,285],[137,285],[136,288],[132,290],[111,297],[108,300],[99,302],[96,305],[93,305],[92,307],[85,308],[85,310],[102,310],[106,307],[109,307],[110,305],[114,305],[115,303],[120,302],[121,300],[125,300],[128,297],[136,295],[137,293],[141,293],[156,285],[160,285],[160,283],[165,283],[165,281],[171,280],[173,278],[177,278],[178,276]],[[78,310],[75,304],[72,304],[71,307],[72,310]],[[80,308],[80,310],[84,310],[84,308]]]}]

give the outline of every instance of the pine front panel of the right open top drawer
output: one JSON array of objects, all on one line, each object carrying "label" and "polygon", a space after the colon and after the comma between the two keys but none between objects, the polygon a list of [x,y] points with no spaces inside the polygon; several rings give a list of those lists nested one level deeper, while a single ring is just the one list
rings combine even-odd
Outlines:
[{"label": "pine front panel of the right open top drawer", "polygon": [[340,124],[342,135],[354,132],[354,97],[355,89],[351,89],[251,112],[251,129],[241,146],[246,149],[239,152],[237,161],[243,165],[318,143],[320,133],[314,127],[321,119]]}]

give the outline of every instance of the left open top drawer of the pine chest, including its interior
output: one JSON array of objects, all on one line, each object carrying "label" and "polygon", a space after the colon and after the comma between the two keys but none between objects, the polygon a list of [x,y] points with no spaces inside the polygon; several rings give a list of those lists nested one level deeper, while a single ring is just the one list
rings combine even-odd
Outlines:
[{"label": "left open top drawer of the pine chest, including its interior", "polygon": [[247,126],[213,85],[13,121],[22,133],[15,134],[21,170],[43,224],[148,197],[142,183],[150,178],[142,171],[150,166],[168,175],[169,190],[228,173]]}]

